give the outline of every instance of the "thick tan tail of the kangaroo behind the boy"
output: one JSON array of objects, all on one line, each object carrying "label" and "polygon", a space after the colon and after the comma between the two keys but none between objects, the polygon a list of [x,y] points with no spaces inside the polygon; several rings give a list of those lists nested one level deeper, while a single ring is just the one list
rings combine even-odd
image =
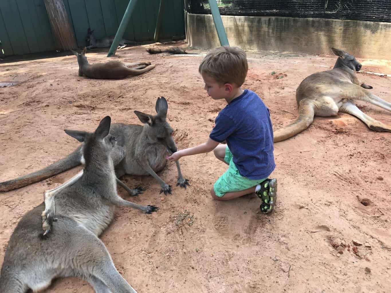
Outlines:
[{"label": "thick tan tail of the kangaroo behind the boy", "polygon": [[282,141],[302,132],[311,125],[314,120],[314,102],[311,100],[301,100],[299,103],[299,117],[291,124],[278,129],[273,133],[274,142]]}]

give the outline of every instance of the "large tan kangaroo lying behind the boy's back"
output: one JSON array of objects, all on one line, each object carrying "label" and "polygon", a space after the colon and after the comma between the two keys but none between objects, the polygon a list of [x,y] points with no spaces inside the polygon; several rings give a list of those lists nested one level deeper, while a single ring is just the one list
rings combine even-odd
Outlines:
[{"label": "large tan kangaroo lying behind the boy's back", "polygon": [[306,77],[296,90],[299,117],[291,124],[274,132],[274,142],[290,138],[307,129],[314,116],[336,116],[338,112],[359,118],[369,129],[391,131],[385,125],[362,113],[352,100],[366,101],[391,111],[391,103],[368,91],[372,86],[359,82],[354,71],[361,70],[361,64],[353,55],[331,48],[338,56],[332,70],[317,72]]}]

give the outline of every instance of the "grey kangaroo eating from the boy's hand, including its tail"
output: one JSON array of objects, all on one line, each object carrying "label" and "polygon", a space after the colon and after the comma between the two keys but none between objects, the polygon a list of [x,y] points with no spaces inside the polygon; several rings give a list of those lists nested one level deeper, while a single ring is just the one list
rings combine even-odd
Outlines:
[{"label": "grey kangaroo eating from the boy's hand, including its tail", "polygon": [[[166,121],[167,109],[167,100],[164,97],[158,98],[155,106],[157,113],[155,116],[135,111],[140,121],[145,123],[144,125],[115,123],[111,125],[110,134],[114,135],[117,138],[118,145],[125,149],[125,157],[115,164],[115,172],[118,178],[125,174],[152,175],[160,183],[160,193],[171,194],[171,186],[156,174],[167,163],[167,152],[172,154],[177,150],[174,139],[172,139],[172,128]],[[84,162],[81,152],[82,147],[83,145],[67,157],[39,171],[0,182],[0,191],[20,188],[78,166]],[[176,185],[186,188],[186,185],[190,184],[187,179],[183,178],[178,161],[176,166],[178,169]],[[129,189],[118,179],[117,183],[126,189],[131,196],[142,193],[142,188]]]}]

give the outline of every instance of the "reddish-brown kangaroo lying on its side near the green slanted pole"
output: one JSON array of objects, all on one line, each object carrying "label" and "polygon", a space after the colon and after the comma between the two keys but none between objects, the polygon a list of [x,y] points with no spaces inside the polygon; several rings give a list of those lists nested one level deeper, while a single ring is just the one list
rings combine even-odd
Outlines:
[{"label": "reddish-brown kangaroo lying on its side near the green slanted pole", "polygon": [[[80,54],[72,50],[79,64],[79,76],[83,76],[84,74],[91,79],[123,79],[129,75],[140,75],[155,68],[155,65],[151,65],[151,62],[127,63],[108,61],[106,63],[90,64],[87,61],[86,51],[86,47],[84,47]],[[129,68],[129,66],[137,67]]]}]

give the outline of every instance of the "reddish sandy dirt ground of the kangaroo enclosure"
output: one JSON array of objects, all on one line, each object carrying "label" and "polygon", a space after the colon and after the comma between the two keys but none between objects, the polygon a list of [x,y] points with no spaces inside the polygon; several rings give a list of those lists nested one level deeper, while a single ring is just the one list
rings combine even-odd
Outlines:
[{"label": "reddish sandy dirt ground of the kangaroo enclosure", "polygon": [[[0,88],[0,181],[38,170],[74,150],[79,143],[63,129],[91,131],[106,115],[113,123],[141,124],[133,111],[153,114],[158,96],[168,100],[167,119],[178,148],[204,142],[225,104],[203,89],[198,74],[202,57],[149,55],[149,46],[117,51],[115,60],[156,64],[152,71],[123,80],[79,77],[74,55],[1,63],[0,80],[21,83]],[[247,53],[244,88],[262,97],[275,130],[296,118],[295,91],[301,80],[327,70],[322,66],[333,66],[336,59]],[[90,63],[108,60],[104,50],[91,50],[87,57]],[[391,74],[389,61],[359,61],[363,70]],[[358,76],[391,102],[390,77]],[[390,112],[365,102],[357,105],[391,125]],[[123,198],[160,210],[142,214],[117,208],[101,239],[118,271],[139,293],[390,292],[390,149],[391,133],[373,132],[348,114],[315,118],[309,129],[275,144],[272,176],[279,189],[270,215],[260,213],[254,194],[213,201],[209,190],[226,165],[213,153],[184,157],[180,162],[191,184],[187,189],[175,187],[174,163],[159,173],[173,186],[172,195],[160,195],[150,176],[124,177],[128,186],[141,185],[146,191],[129,198],[118,188]],[[42,202],[45,190],[80,168],[1,194],[0,264],[23,214]],[[93,289],[70,277],[56,280],[46,292]]]}]

